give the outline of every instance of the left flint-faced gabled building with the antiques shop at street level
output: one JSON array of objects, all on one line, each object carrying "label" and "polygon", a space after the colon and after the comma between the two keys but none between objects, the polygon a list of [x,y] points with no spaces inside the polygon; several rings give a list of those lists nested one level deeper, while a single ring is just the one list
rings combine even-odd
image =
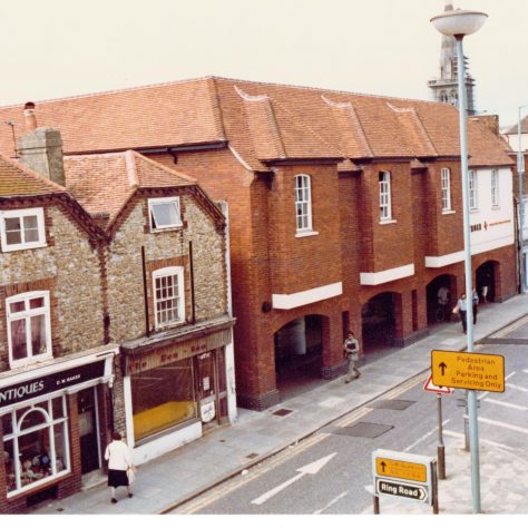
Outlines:
[{"label": "left flint-faced gabled building with the antiques shop at street level", "polygon": [[0,512],[101,467],[118,346],[105,343],[102,232],[65,187],[0,156]]}]

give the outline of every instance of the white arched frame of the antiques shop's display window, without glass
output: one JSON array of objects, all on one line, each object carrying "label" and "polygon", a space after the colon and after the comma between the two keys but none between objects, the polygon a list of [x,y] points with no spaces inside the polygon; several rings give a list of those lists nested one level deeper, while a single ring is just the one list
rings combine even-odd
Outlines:
[{"label": "white arched frame of the antiques shop's display window, without glass", "polygon": [[[62,399],[62,417],[60,417],[60,418],[53,418],[53,415],[52,415],[52,400],[55,400],[57,398]],[[47,409],[42,409],[41,407],[38,405],[39,403],[41,404],[42,402],[48,403]],[[17,420],[17,411],[19,409],[27,409],[27,410],[19,418],[19,420]],[[30,412],[41,412],[46,418],[45,423],[36,426],[36,427],[27,429],[27,430],[20,429],[20,427],[23,422],[23,419]],[[2,451],[3,451],[3,442],[7,442],[8,440],[12,440],[13,441],[13,451],[14,451],[14,454],[16,454],[17,458],[19,457],[19,442],[18,442],[18,439],[20,437],[22,437],[27,433],[30,433],[32,431],[53,428],[51,434],[49,436],[50,446],[49,446],[49,452],[48,452],[48,454],[50,457],[51,475],[49,477],[45,477],[42,479],[36,480],[35,482],[31,482],[29,485],[22,486],[21,475],[20,475],[20,469],[21,468],[20,468],[20,466],[14,467],[17,489],[12,490],[12,491],[9,491],[7,493],[8,498],[14,497],[14,496],[20,495],[20,493],[23,493],[23,492],[26,492],[26,491],[28,491],[32,488],[38,488],[42,483],[52,481],[52,480],[57,479],[58,477],[60,477],[62,475],[67,475],[71,471],[70,443],[69,443],[69,431],[68,431],[68,421],[69,421],[68,420],[68,405],[66,403],[65,394],[55,395],[55,397],[47,395],[46,399],[40,399],[38,401],[36,400],[30,405],[28,405],[27,403],[25,405],[17,405],[16,409],[10,410],[7,413],[3,412],[1,417],[6,415],[6,414],[11,414],[12,432],[6,433],[6,431],[4,431],[3,439],[2,439]],[[1,417],[0,417],[0,419],[1,419]],[[65,442],[65,453],[63,453],[65,454],[65,460],[62,461],[62,463],[65,466],[65,469],[62,469],[61,471],[57,471],[57,451],[56,451],[56,446],[55,446],[55,440],[56,440],[55,428],[57,426],[62,424],[62,423],[63,423],[62,431],[63,431],[63,442]],[[1,463],[3,463],[3,460],[1,461]]]}]

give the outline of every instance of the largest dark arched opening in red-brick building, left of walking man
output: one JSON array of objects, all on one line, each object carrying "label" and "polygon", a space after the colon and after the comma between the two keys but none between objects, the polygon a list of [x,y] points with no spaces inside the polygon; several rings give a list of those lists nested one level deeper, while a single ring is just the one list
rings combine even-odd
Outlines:
[{"label": "largest dark arched opening in red-brick building, left of walking man", "polygon": [[309,389],[321,380],[323,317],[306,315],[290,321],[274,335],[276,387],[281,395]]}]

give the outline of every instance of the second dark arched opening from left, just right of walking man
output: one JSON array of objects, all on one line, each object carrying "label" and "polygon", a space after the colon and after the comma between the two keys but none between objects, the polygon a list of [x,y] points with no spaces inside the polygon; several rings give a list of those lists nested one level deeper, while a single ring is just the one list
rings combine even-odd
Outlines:
[{"label": "second dark arched opening from left, just right of walking man", "polygon": [[395,335],[394,299],[391,292],[380,293],[361,310],[363,351],[392,346]]}]

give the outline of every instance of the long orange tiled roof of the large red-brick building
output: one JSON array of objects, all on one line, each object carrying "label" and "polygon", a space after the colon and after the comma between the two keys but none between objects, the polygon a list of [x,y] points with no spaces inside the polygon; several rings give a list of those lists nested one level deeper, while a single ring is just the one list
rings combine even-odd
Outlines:
[{"label": "long orange tiled roof of the large red-brick building", "polygon": [[[67,154],[225,141],[251,168],[283,158],[458,156],[450,105],[208,77],[37,105],[40,125],[60,129]],[[23,135],[21,107],[0,119]],[[471,162],[509,165],[499,143],[468,123]],[[0,151],[12,150],[0,127]]]}]

